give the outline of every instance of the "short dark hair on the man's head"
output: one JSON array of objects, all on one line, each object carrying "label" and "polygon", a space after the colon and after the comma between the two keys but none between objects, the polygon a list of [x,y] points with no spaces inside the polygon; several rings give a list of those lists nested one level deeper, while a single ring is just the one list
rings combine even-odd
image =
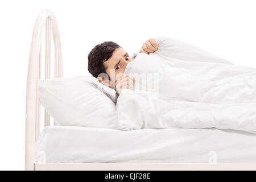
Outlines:
[{"label": "short dark hair on the man's head", "polygon": [[104,42],[95,46],[88,55],[88,71],[92,76],[98,77],[100,73],[106,73],[103,65],[120,46],[114,42]]}]

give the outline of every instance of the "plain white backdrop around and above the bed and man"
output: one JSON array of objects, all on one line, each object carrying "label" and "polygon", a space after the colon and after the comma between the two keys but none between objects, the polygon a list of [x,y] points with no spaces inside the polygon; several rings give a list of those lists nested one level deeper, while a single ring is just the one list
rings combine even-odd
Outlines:
[{"label": "plain white backdrop around and above the bed and man", "polygon": [[64,76],[86,75],[87,55],[113,41],[132,55],[169,36],[256,68],[255,1],[0,1],[0,169],[24,169],[28,56],[36,17],[55,13]]}]

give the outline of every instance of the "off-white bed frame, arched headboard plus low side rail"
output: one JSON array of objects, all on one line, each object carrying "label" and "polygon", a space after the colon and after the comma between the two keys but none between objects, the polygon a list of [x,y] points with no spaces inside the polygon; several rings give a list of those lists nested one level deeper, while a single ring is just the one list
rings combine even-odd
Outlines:
[{"label": "off-white bed frame, arched headboard plus low side rail", "polygon": [[[51,35],[55,49],[54,77],[63,77],[60,34],[55,15],[43,10],[36,19],[32,36],[27,75],[26,98],[26,170],[256,170],[256,163],[36,163],[35,142],[40,134],[40,100],[42,34],[46,28],[45,78],[51,78]],[[50,115],[44,110],[44,126],[50,126]],[[56,125],[56,121],[53,122]],[[255,154],[256,155],[256,154]]]}]

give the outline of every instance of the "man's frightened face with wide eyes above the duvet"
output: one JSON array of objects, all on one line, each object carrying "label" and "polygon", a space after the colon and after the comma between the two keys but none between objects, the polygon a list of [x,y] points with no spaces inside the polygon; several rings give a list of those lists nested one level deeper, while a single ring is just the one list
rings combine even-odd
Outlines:
[{"label": "man's frightened face with wide eyes above the duvet", "polygon": [[123,72],[125,72],[127,64],[129,64],[131,61],[133,61],[133,59],[131,59],[129,54],[119,47],[116,48],[113,55],[103,63],[112,84],[114,84],[116,76],[120,76],[123,74]]}]

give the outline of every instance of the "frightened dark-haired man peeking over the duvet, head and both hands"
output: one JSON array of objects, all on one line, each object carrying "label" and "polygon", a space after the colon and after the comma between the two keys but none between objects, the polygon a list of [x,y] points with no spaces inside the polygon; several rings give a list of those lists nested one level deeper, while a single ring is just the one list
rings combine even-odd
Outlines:
[{"label": "frightened dark-haired man peeking over the duvet, head and both hands", "polygon": [[[152,53],[158,50],[155,39],[148,39],[143,43],[139,53]],[[123,88],[133,90],[134,78],[124,75],[127,64],[134,60],[138,53],[133,57],[114,42],[104,42],[95,46],[88,55],[88,71],[98,81],[110,88],[115,89],[119,95]]]}]

